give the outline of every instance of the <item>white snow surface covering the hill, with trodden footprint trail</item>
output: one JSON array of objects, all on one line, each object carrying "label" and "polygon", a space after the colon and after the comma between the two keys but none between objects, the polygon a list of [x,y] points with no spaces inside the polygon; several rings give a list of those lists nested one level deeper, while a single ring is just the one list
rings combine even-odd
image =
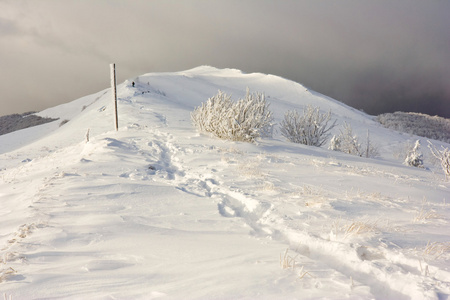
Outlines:
[{"label": "white snow surface covering the hill, with trodden footprint trail", "polygon": [[[369,130],[380,156],[195,130],[195,107],[247,87],[278,124],[319,106]],[[450,183],[425,147],[425,168],[396,157],[418,137],[298,83],[207,66],[125,81],[118,111],[115,131],[106,89],[0,136],[0,297],[448,299]]]}]

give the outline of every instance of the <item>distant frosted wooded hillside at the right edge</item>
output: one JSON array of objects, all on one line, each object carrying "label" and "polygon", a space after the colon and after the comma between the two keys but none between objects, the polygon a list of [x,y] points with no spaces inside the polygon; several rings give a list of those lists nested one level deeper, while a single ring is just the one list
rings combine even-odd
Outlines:
[{"label": "distant frosted wooded hillside at the right edge", "polygon": [[377,117],[384,127],[450,143],[450,119],[412,112],[381,114]]}]

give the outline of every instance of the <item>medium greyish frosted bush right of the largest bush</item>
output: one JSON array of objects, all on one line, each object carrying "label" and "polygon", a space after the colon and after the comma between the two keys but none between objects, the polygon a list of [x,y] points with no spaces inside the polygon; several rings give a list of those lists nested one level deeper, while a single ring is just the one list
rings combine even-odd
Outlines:
[{"label": "medium greyish frosted bush right of the largest bush", "polygon": [[308,105],[300,115],[296,110],[288,111],[281,122],[281,134],[293,143],[308,146],[322,146],[329,132],[336,126],[331,120],[331,112],[323,114],[318,107]]}]

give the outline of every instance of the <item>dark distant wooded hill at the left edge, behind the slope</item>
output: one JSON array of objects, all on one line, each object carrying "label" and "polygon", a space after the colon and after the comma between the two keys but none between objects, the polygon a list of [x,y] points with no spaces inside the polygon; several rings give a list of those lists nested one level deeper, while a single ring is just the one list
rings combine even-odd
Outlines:
[{"label": "dark distant wooded hill at the left edge, behind the slope", "polygon": [[12,114],[0,117],[0,135],[58,120],[53,118],[43,118],[34,113],[35,112],[26,112],[23,114]]}]

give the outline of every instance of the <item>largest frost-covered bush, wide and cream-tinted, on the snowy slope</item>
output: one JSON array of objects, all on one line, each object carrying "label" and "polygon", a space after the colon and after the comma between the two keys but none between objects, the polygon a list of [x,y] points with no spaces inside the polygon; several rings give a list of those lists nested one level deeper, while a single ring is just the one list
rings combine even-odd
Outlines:
[{"label": "largest frost-covered bush, wide and cream-tinted, on the snowy slope", "polygon": [[272,134],[272,112],[264,94],[247,93],[244,99],[232,101],[222,91],[209,98],[191,113],[194,126],[218,138],[253,142]]}]

